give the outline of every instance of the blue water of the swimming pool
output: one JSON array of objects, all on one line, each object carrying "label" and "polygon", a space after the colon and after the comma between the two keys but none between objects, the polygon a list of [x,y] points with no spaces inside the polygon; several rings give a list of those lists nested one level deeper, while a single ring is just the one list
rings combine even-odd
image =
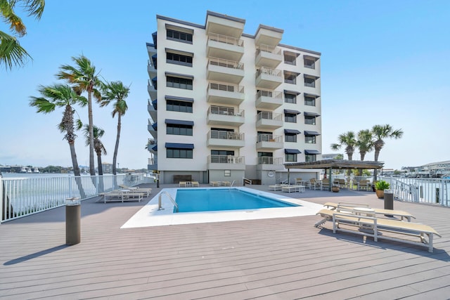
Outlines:
[{"label": "blue water of the swimming pool", "polygon": [[178,190],[175,201],[178,204],[179,212],[300,206],[248,193],[236,188]]}]

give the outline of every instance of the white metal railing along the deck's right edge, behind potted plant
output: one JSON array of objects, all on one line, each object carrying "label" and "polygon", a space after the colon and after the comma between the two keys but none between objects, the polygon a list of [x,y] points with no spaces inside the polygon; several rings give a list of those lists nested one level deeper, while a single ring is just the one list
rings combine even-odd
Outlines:
[{"label": "white metal railing along the deck's right edge, behind potted plant", "polygon": [[409,202],[441,204],[450,207],[450,180],[444,178],[384,177],[394,197]]}]

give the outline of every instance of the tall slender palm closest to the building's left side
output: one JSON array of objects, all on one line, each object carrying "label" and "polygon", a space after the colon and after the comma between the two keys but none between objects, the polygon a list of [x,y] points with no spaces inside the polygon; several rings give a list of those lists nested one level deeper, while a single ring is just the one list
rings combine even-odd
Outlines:
[{"label": "tall slender palm closest to the building's left side", "polygon": [[117,151],[119,150],[119,140],[120,140],[120,129],[122,127],[122,116],[125,115],[125,112],[128,110],[127,102],[125,99],[129,94],[129,86],[124,86],[122,81],[113,81],[108,84],[105,84],[103,88],[103,96],[101,100],[100,106],[103,107],[111,103],[111,101],[115,100],[113,104],[113,117],[117,115],[117,137],[115,139],[115,148],[113,155],[113,174],[116,175],[116,164],[117,164]]}]

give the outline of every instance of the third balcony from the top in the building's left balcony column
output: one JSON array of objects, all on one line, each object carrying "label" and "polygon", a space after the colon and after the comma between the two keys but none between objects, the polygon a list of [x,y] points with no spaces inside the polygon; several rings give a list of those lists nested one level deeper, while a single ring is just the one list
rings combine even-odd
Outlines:
[{"label": "third balcony from the top in the building's left balcony column", "polygon": [[240,105],[244,100],[244,87],[210,82],[207,87],[207,101],[225,105]]}]

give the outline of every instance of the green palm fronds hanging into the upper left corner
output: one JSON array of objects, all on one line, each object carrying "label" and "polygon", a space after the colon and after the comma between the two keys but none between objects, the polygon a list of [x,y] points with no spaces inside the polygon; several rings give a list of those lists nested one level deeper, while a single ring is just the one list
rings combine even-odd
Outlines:
[{"label": "green palm fronds hanging into the upper left corner", "polygon": [[[45,0],[0,0],[1,20],[10,25],[10,29],[15,36],[24,37],[27,34],[27,27],[14,12],[15,6],[19,2],[23,2],[21,6],[29,17],[34,16],[39,20],[44,12]],[[0,65],[5,65],[6,70],[11,70],[13,65],[23,66],[27,58],[32,58],[25,48],[20,46],[17,37],[0,31]]]}]

